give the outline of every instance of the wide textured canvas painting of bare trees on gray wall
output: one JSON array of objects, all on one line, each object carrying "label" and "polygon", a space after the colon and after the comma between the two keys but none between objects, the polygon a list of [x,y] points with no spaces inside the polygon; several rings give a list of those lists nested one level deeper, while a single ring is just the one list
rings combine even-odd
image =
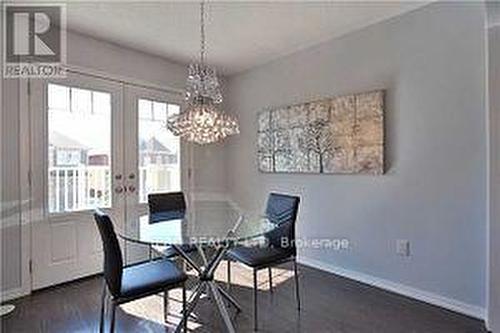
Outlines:
[{"label": "wide textured canvas painting of bare trees on gray wall", "polygon": [[384,91],[265,110],[257,141],[262,172],[382,174]]}]

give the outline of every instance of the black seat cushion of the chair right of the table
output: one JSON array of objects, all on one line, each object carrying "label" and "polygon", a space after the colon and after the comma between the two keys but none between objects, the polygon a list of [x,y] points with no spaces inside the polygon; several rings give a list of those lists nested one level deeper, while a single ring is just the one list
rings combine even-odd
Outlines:
[{"label": "black seat cushion of the chair right of the table", "polygon": [[245,247],[238,246],[228,251],[227,256],[235,261],[244,263],[250,267],[266,266],[281,260],[291,258],[295,255],[294,249],[282,249],[274,247]]}]

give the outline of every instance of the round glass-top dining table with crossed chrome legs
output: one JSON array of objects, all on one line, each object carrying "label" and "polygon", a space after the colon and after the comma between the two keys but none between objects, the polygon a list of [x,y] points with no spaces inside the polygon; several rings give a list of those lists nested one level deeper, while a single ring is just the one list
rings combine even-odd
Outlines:
[{"label": "round glass-top dining table with crossed chrome legs", "polygon": [[[196,273],[196,283],[177,330],[188,320],[201,296],[210,294],[228,332],[235,332],[224,303],[226,299],[237,311],[241,306],[214,279],[214,274],[233,246],[255,241],[273,231],[276,225],[264,215],[244,213],[229,204],[203,203],[180,212],[144,214],[133,227],[117,230],[126,241],[155,247],[170,247]],[[201,260],[195,260],[201,258]]]}]

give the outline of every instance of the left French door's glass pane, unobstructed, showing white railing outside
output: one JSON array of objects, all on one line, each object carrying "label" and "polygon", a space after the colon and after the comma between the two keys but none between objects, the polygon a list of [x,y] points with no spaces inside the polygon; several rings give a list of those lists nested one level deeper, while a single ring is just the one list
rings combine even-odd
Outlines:
[{"label": "left French door's glass pane, unobstructed, showing white railing outside", "polygon": [[48,85],[50,213],[111,206],[111,95]]}]

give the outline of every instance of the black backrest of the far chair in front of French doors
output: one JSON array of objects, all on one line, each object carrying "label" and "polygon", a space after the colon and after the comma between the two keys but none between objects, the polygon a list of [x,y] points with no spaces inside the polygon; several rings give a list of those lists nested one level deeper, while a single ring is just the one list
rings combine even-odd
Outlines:
[{"label": "black backrest of the far chair in front of French doors", "polygon": [[186,200],[182,192],[154,193],[148,195],[151,222],[183,218]]}]

